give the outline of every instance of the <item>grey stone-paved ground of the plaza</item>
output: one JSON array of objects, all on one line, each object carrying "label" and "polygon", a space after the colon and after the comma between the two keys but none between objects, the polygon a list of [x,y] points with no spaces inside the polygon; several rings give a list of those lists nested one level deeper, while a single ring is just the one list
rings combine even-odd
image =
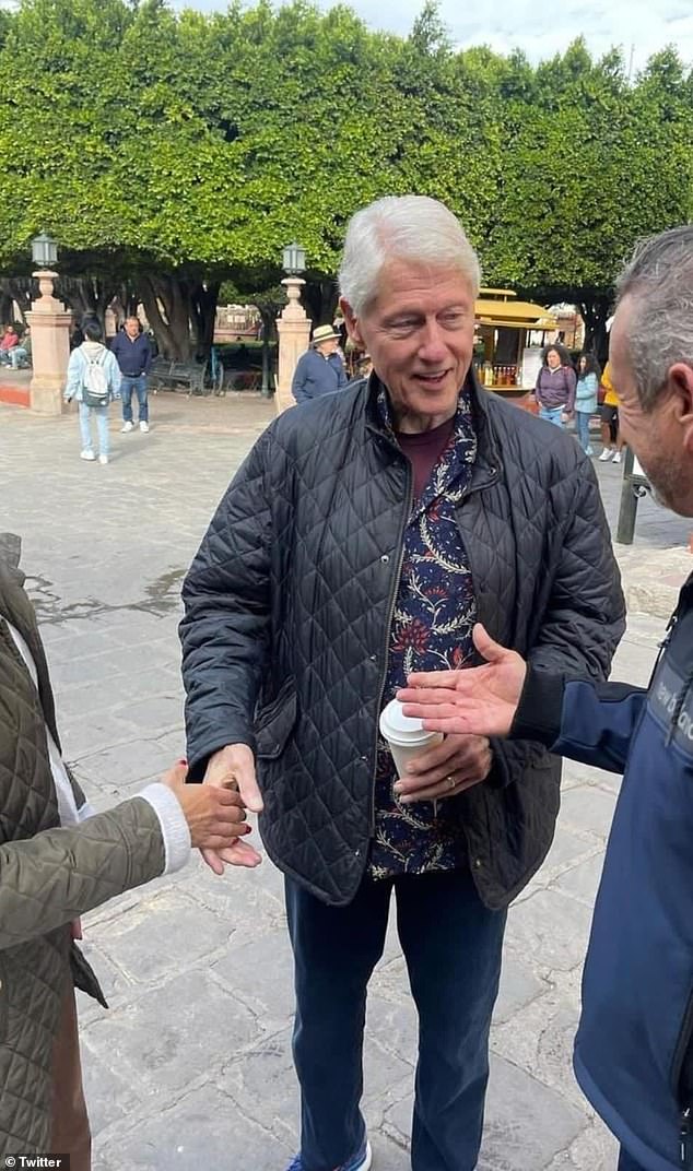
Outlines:
[{"label": "grey stone-paved ground of the plaza", "polygon": [[[183,573],[272,417],[252,396],[152,399],[149,436],[79,456],[74,417],[0,406],[0,529],[23,536],[66,756],[96,808],[182,755]],[[610,515],[619,475],[597,465]],[[688,527],[646,502],[639,541]],[[664,533],[664,537],[663,537]],[[646,682],[664,622],[631,619],[616,673]],[[569,765],[548,862],[510,911],[482,1171],[607,1171],[614,1144],[571,1074],[580,964],[619,779]],[[283,1171],[297,1145],[281,879],[183,874],[86,920],[110,1011],[80,1004],[96,1171]],[[403,1171],[416,1027],[394,930],[372,982],[365,1110],[376,1171]]]}]

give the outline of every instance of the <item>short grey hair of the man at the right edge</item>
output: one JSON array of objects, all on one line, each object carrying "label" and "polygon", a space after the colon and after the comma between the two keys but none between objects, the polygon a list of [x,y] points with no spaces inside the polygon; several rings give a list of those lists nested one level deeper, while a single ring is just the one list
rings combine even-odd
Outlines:
[{"label": "short grey hair of the man at the right edge", "polygon": [[630,362],[644,411],[666,386],[670,368],[693,368],[693,224],[643,240],[618,281],[618,300],[630,296]]}]

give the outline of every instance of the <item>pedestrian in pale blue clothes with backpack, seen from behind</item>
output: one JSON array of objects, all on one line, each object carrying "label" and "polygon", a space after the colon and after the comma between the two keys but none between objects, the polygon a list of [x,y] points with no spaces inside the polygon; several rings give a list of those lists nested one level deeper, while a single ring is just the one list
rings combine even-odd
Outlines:
[{"label": "pedestrian in pale blue clothes with backpack, seen from behind", "polygon": [[80,409],[80,433],[82,450],[80,458],[94,461],[91,420],[96,420],[98,436],[98,463],[108,464],[109,431],[108,409],[114,398],[120,397],[121,372],[118,364],[103,344],[103,329],[97,317],[82,322],[84,341],[70,354],[67,367],[66,403],[74,398]]}]

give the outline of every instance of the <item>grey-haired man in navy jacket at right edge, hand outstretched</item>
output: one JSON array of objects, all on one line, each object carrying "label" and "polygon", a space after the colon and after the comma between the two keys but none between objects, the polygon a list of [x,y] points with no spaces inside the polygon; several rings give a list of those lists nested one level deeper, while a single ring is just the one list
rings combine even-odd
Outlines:
[{"label": "grey-haired man in navy jacket at right edge, hand outstretched", "polygon": [[[619,285],[611,377],[621,434],[660,501],[693,516],[693,225],[640,245]],[[619,1171],[693,1167],[693,574],[650,687],[528,667],[412,674],[408,715],[447,733],[538,740],[624,781],[595,906],[578,1081],[621,1143]]]}]

